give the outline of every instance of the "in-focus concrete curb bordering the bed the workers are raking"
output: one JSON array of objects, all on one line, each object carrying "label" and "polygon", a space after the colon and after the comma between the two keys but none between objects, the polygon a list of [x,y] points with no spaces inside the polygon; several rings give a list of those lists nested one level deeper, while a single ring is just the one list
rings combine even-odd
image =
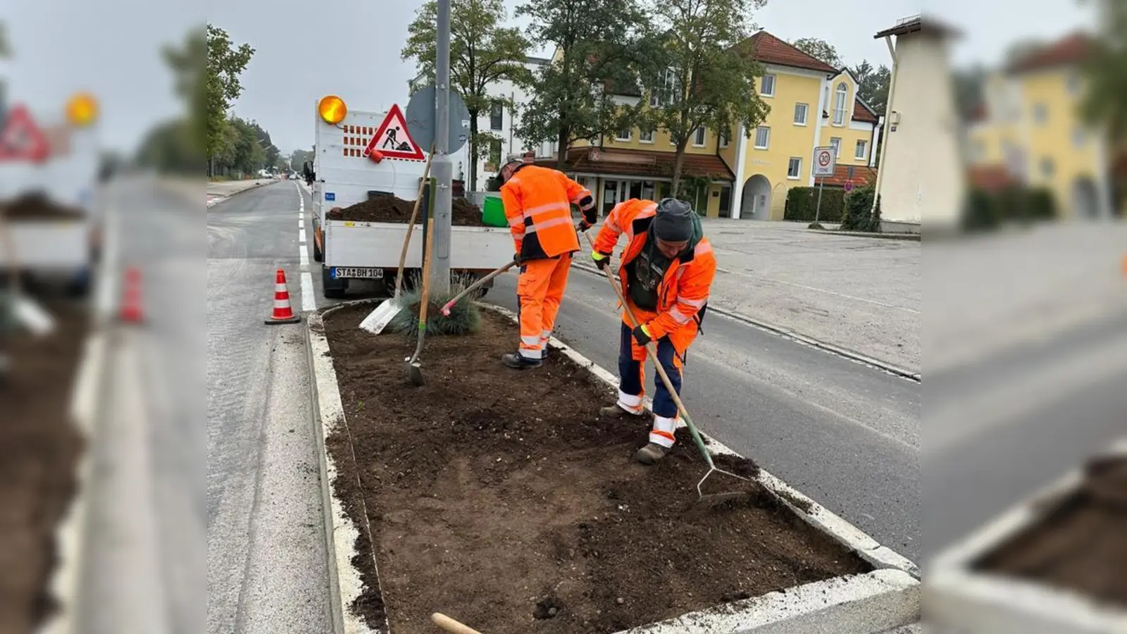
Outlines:
[{"label": "in-focus concrete curb bordering the bed the workers are raking", "polygon": [[[360,300],[337,305],[309,317],[309,352],[313,372],[313,394],[321,438],[321,486],[328,500],[325,505],[326,536],[330,556],[329,580],[334,599],[335,634],[364,634],[372,632],[362,619],[348,614],[350,605],[362,590],[360,575],[352,566],[358,528],[344,513],[339,500],[332,494],[331,478],[336,467],[325,451],[323,440],[338,425],[345,425],[336,372],[332,369],[323,317],[344,307],[373,303]],[[500,307],[481,305],[509,319],[516,315]],[[587,368],[610,387],[618,379],[564,342],[552,337],[549,344],[583,368]],[[722,443],[702,434],[710,449],[717,454],[738,455]],[[829,535],[836,541],[855,551],[877,570],[851,578],[835,578],[807,583],[786,591],[772,592],[744,601],[736,601],[706,610],[694,611],[672,620],[650,624],[620,634],[871,634],[908,625],[920,619],[921,597],[919,569],[907,558],[880,546],[875,539],[788,486],[779,478],[762,472],[761,483],[798,517]],[[799,507],[806,510],[800,510]],[[374,551],[374,548],[373,548]],[[373,554],[374,556],[374,554]],[[374,562],[373,562],[374,564]]]}]

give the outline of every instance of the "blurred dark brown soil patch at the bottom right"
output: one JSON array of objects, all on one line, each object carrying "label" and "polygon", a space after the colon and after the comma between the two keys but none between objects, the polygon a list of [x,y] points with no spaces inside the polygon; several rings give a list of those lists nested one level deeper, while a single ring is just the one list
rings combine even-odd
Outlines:
[{"label": "blurred dark brown soil patch at the bottom right", "polygon": [[976,567],[1127,607],[1127,458],[1092,461],[1081,490]]}]

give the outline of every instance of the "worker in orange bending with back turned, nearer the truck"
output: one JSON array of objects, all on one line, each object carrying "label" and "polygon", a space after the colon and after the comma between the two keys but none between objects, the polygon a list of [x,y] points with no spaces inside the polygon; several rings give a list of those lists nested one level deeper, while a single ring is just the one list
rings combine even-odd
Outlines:
[{"label": "worker in orange bending with back turned, nearer the truck", "polygon": [[502,356],[509,368],[538,368],[548,352],[548,340],[567,288],[571,254],[579,237],[571,220],[571,205],[583,211],[579,230],[597,220],[595,201],[586,187],[562,173],[531,162],[511,160],[500,168],[502,202],[521,266],[516,294],[521,300],[521,345]]}]

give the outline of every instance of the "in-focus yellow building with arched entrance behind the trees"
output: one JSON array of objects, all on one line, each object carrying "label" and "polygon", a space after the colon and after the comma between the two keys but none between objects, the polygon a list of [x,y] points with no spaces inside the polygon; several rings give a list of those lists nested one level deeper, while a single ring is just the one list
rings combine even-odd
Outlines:
[{"label": "in-focus yellow building with arched entrance behind the trees", "polygon": [[[782,220],[787,192],[814,186],[814,148],[838,147],[837,170],[826,186],[875,178],[879,122],[857,96],[857,79],[766,32],[751,37],[764,74],[756,88],[771,106],[755,130],[740,127],[731,139],[700,129],[685,149],[683,178],[707,178],[694,206],[712,218]],[[619,103],[637,104],[640,91],[619,91]],[[653,97],[656,99],[657,97]],[[655,104],[656,105],[656,104]],[[568,150],[565,171],[596,196],[603,213],[631,199],[668,195],[674,147],[665,130],[621,130]],[[554,166],[554,159],[540,159]]]}]

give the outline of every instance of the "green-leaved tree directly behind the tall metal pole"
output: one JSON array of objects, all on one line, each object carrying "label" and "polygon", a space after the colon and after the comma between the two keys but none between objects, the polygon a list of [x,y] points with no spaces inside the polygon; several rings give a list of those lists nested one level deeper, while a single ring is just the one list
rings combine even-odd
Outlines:
[{"label": "green-leaved tree directly behind the tall metal pole", "polygon": [[[530,73],[525,67],[529,41],[515,27],[506,27],[507,12],[502,0],[464,0],[454,2],[450,17],[450,86],[470,111],[470,190],[477,190],[478,160],[488,151],[494,140],[490,132],[478,130],[478,116],[489,112],[495,103],[513,111],[511,99],[489,94],[490,86],[500,80],[526,85]],[[438,5],[425,2],[407,27],[403,60],[415,60],[418,83],[411,90],[434,82],[437,51]]]}]

